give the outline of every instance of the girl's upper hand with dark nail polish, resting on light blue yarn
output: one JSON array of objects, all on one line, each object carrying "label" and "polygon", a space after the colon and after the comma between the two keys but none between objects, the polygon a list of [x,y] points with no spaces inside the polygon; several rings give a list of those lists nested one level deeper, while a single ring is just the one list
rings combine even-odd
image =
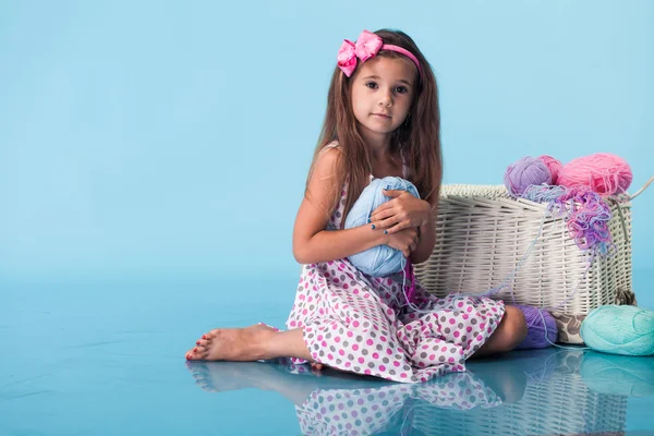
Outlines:
[{"label": "girl's upper hand with dark nail polish, resting on light blue yarn", "polygon": [[377,207],[371,215],[375,230],[386,230],[388,234],[401,230],[426,226],[432,215],[432,206],[402,190],[384,190],[384,195],[392,199]]}]

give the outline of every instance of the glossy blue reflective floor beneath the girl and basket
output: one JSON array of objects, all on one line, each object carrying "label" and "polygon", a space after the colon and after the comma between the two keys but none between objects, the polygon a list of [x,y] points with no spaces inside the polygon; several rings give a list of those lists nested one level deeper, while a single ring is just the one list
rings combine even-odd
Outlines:
[{"label": "glossy blue reflective floor beneath the girl and basket", "polygon": [[654,434],[654,358],[520,351],[420,385],[186,363],[211,327],[283,325],[294,280],[235,286],[2,283],[0,435]]}]

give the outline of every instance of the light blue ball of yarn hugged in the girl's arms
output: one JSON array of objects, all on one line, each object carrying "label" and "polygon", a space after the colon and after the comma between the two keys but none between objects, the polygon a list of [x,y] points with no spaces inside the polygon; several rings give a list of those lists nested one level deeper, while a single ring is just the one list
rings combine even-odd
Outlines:
[{"label": "light blue ball of yarn hugged in the girl's arms", "polygon": [[[346,229],[367,225],[371,214],[378,206],[391,199],[391,197],[384,195],[383,190],[402,190],[420,198],[417,189],[408,180],[397,177],[375,179],[363,190],[361,196],[352,205],[352,209],[346,217]],[[405,265],[402,252],[388,245],[378,245],[348,258],[362,272],[373,277],[386,277],[400,272]]]}]

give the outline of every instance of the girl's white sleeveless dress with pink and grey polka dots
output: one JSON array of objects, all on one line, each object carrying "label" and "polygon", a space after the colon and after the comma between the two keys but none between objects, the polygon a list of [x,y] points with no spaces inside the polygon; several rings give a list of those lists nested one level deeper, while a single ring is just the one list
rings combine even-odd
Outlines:
[{"label": "girl's white sleeveless dress with pink and grey polka dots", "polygon": [[[328,229],[340,227],[346,189]],[[412,312],[401,287],[401,274],[373,278],[347,258],[305,265],[287,327],[304,328],[316,362],[420,383],[465,371],[465,359],[484,344],[505,313],[501,301],[456,294],[438,299],[419,283],[414,303],[421,312]]]}]

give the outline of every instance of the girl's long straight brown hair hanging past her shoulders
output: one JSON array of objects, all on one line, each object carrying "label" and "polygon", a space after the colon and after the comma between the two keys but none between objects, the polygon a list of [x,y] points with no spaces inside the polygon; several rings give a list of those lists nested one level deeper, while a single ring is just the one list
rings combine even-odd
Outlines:
[{"label": "girl's long straight brown hair hanging past her shoulders", "polygon": [[[380,29],[375,34],[384,40],[384,44],[391,44],[409,50],[420,62],[422,75],[416,82],[417,89],[409,111],[408,122],[402,123],[392,133],[391,153],[401,152],[404,155],[411,182],[417,187],[423,199],[436,206],[443,179],[440,110],[436,77],[423,53],[407,34],[390,29]],[[390,50],[380,50],[377,56],[390,59],[403,58],[403,55]],[[327,144],[338,141],[341,153],[339,153],[336,166],[338,171],[334,174],[334,197],[330,204],[338,204],[341,189],[347,183],[343,218],[368,184],[371,171],[368,150],[359,134],[352,110],[350,81],[350,77],[346,76],[338,66],[334,69],[327,95],[327,113],[305,189],[305,195],[308,195],[308,181],[320,152]],[[344,221],[343,219],[342,222],[344,223]]]}]

